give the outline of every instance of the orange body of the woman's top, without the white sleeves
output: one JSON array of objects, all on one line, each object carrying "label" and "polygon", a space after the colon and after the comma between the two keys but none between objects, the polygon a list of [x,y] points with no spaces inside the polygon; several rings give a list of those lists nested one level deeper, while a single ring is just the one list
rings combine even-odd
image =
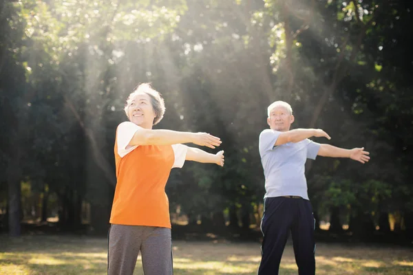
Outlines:
[{"label": "orange body of the woman's top, without the white sleeves", "polygon": [[171,228],[165,186],[175,155],[171,145],[138,146],[124,157],[115,140],[117,184],[110,223]]}]

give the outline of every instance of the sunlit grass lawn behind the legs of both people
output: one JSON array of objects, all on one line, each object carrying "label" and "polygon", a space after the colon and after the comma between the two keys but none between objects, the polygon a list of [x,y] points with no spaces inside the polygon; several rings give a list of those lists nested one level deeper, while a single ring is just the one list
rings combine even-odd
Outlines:
[{"label": "sunlit grass lawn behind the legs of both people", "polygon": [[[408,248],[318,243],[317,274],[413,274]],[[260,243],[173,241],[176,275],[256,274]],[[107,241],[80,236],[0,235],[0,274],[106,274]],[[140,256],[134,274],[143,274]],[[297,274],[291,245],[280,274]]]}]

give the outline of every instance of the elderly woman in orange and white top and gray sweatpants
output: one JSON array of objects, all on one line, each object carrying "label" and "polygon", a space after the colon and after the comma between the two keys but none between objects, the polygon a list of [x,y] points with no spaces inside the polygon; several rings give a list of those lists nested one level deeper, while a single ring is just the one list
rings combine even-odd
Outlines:
[{"label": "elderly woman in orange and white top and gray sweatpants", "polygon": [[165,185],[171,168],[185,160],[224,165],[224,151],[211,154],[184,143],[215,148],[220,138],[209,133],[153,130],[162,120],[165,103],[147,83],[127,98],[129,122],[116,129],[116,190],[109,229],[109,275],[134,273],[142,253],[145,275],[172,271],[171,221]]}]

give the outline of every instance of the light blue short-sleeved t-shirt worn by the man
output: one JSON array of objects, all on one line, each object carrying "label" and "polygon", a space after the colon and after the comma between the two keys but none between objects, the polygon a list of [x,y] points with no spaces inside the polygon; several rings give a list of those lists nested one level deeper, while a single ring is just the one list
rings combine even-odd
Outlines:
[{"label": "light blue short-sleeved t-shirt worn by the man", "polygon": [[300,196],[308,199],[304,175],[306,160],[315,159],[320,144],[311,140],[275,146],[282,132],[266,129],[260,133],[260,156],[264,168],[266,197]]}]

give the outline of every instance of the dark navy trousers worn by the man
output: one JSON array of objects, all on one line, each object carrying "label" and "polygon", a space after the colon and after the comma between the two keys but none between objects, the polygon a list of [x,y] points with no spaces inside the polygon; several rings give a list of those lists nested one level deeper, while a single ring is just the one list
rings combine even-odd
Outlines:
[{"label": "dark navy trousers worn by the man", "polygon": [[258,275],[275,275],[291,232],[299,275],[315,274],[315,219],[310,201],[287,197],[264,199],[264,235]]}]

